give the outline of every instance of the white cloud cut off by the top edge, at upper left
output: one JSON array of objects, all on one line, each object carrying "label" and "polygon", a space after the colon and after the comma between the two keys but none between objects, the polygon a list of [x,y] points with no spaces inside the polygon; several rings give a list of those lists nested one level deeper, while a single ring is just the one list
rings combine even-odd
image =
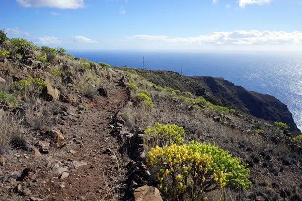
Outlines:
[{"label": "white cloud cut off by the top edge, at upper left", "polygon": [[58,9],[82,9],[84,0],[17,0],[23,7],[51,7]]}]

